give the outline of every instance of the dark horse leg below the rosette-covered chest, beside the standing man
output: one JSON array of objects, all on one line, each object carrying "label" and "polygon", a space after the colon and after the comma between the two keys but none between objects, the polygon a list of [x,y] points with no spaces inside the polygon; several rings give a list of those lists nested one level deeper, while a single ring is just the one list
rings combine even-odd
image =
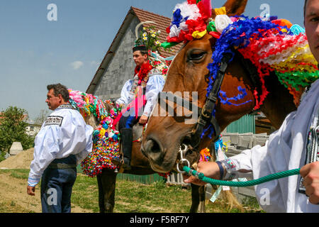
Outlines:
[{"label": "dark horse leg below the rosette-covered chest, beside the standing man", "polygon": [[100,213],[112,213],[115,204],[116,173],[104,169],[96,179],[99,186]]}]

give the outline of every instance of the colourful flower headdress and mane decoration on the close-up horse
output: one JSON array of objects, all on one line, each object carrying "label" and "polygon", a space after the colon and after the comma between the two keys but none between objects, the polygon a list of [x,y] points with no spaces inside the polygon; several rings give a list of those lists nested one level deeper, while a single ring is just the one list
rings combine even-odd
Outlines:
[{"label": "colourful flower headdress and mane decoration on the close-up horse", "polygon": [[[211,0],[188,0],[175,6],[167,33],[167,42],[162,43],[164,48],[203,38],[207,33],[217,39],[212,62],[208,65],[207,94],[211,92],[225,53],[231,53],[234,57],[237,50],[250,60],[257,68],[262,84],[261,94],[257,90],[254,92],[254,109],[259,109],[269,93],[264,77],[271,72],[289,89],[296,106],[303,88],[318,79],[318,62],[310,52],[305,30],[284,19],[274,16],[267,20],[243,15],[229,17],[225,7],[212,9]],[[223,92],[220,91],[219,95],[223,101]]]}]

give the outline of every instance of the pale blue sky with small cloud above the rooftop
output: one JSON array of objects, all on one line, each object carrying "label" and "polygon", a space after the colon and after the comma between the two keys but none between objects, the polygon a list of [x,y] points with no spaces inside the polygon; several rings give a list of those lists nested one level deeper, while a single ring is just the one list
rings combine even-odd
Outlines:
[{"label": "pale blue sky with small cloud above the rooftop", "polygon": [[[171,18],[183,1],[1,0],[0,111],[17,106],[35,119],[47,110],[47,84],[85,92],[130,6]],[[213,8],[225,1],[212,0]],[[248,0],[244,14],[261,15],[263,4],[303,27],[302,0]]]}]

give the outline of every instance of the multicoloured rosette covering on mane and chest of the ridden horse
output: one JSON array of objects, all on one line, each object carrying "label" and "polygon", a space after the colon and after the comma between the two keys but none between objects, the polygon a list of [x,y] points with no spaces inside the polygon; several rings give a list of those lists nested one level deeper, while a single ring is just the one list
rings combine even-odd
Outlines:
[{"label": "multicoloured rosette covering on mane and chest of the ridden horse", "polygon": [[97,96],[69,89],[69,102],[82,116],[87,118],[93,115],[99,126],[94,128],[92,152],[82,161],[81,167],[85,175],[95,177],[103,168],[116,169],[111,162],[118,157],[120,133],[113,125],[121,109],[111,101],[102,101]]}]

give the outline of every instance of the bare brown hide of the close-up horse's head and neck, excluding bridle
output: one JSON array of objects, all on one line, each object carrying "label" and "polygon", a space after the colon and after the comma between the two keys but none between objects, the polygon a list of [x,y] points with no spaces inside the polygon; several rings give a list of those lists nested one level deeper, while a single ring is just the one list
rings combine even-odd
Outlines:
[{"label": "bare brown hide of the close-up horse's head and neck, excluding bridle", "polygon": [[[228,16],[235,16],[243,13],[246,4],[247,0],[228,0],[224,6]],[[207,66],[211,62],[215,44],[216,38],[208,33],[201,39],[194,39],[186,43],[169,68],[163,92],[174,94],[176,92],[180,92],[180,94],[197,92],[198,107],[203,108],[207,101]],[[245,64],[242,56],[237,53],[225,70],[225,77],[220,89],[227,92],[228,96],[236,96],[238,94],[237,87],[240,86],[247,91],[247,95],[242,99],[242,102],[248,102],[240,106],[228,106],[217,100],[215,106],[216,121],[220,126],[220,131],[223,131],[231,122],[245,114],[250,114],[256,104],[254,89],[259,89],[259,87],[251,77],[252,71],[256,71],[256,68],[246,67]],[[286,115],[296,110],[293,96],[279,82],[275,74],[270,74],[264,79],[269,94],[260,111],[269,118],[275,128],[279,128]],[[184,97],[184,99],[186,98]],[[191,97],[189,97],[189,101],[192,101]],[[169,106],[169,103],[167,103],[167,106]],[[177,107],[175,107],[176,109]],[[142,153],[149,158],[153,170],[169,172],[173,169],[176,170],[177,162],[180,160],[179,150],[181,145],[189,144],[190,135],[194,132],[196,124],[184,123],[185,116],[161,116],[161,111],[162,108],[158,102],[147,125],[146,135],[142,139]],[[208,147],[218,135],[214,133],[212,138],[208,138],[208,133],[206,133],[196,150]],[[186,159],[191,164],[198,162],[198,153],[195,153],[196,155],[194,155],[194,152],[186,154]]]}]

